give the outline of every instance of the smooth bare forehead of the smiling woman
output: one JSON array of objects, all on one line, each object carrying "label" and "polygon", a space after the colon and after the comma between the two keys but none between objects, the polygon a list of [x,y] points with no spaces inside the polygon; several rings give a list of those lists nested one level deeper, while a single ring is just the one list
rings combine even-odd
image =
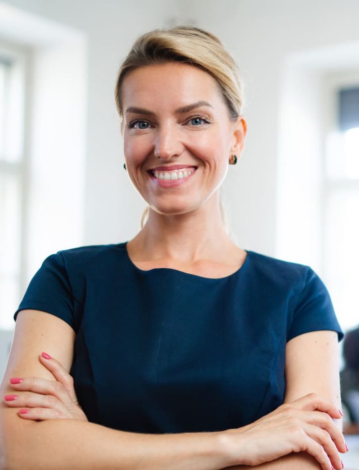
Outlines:
[{"label": "smooth bare forehead of the smiling woman", "polygon": [[222,102],[216,80],[189,64],[168,62],[132,70],[122,84],[122,104],[188,104],[199,100],[214,106]]}]

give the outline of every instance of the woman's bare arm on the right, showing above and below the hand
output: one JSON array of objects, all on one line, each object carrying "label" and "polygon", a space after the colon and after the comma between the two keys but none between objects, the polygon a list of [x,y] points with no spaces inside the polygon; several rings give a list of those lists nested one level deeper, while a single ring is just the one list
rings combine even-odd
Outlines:
[{"label": "woman's bare arm on the right, showing above and below the hand", "polygon": [[[336,331],[311,331],[291,339],[286,347],[286,391],[283,403],[315,392],[341,409],[338,334]],[[339,430],[343,421],[334,419]],[[317,460],[306,452],[290,453],[271,462],[250,467],[237,465],[232,470],[321,470]]]}]

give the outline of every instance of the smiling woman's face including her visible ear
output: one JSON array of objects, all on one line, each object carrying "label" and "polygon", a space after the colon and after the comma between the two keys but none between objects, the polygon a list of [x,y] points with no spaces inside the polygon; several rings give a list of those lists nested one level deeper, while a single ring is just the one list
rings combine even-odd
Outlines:
[{"label": "smiling woman's face including her visible ear", "polygon": [[150,65],[125,77],[122,97],[126,168],[137,191],[162,214],[204,205],[246,132],[243,118],[229,119],[215,79],[179,62]]}]

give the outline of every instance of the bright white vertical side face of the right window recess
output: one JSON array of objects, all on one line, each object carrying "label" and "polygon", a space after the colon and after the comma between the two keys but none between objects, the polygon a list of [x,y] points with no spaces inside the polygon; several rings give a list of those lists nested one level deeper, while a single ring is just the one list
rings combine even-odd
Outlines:
[{"label": "bright white vertical side face of the right window recess", "polygon": [[279,108],[276,254],[316,270],[322,261],[321,98],[319,74],[289,62]]}]

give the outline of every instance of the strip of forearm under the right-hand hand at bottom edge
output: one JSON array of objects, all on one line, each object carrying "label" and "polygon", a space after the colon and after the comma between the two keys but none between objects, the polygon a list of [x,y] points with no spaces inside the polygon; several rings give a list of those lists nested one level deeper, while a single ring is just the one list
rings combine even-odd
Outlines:
[{"label": "strip of forearm under the right-hand hand at bottom edge", "polygon": [[321,470],[322,466],[307,452],[290,453],[255,467],[235,465],[222,470]]}]

